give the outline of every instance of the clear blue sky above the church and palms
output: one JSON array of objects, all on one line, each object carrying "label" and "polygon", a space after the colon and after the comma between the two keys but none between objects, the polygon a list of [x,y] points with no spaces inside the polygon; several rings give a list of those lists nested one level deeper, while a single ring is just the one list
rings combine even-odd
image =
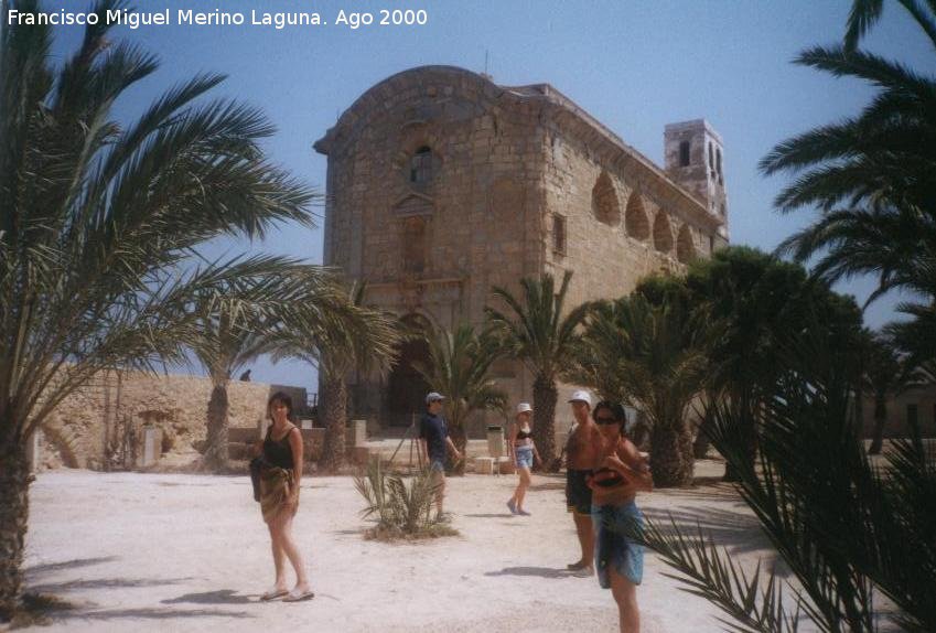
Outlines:
[{"label": "clear blue sky above the church and palms", "polygon": [[[84,1],[46,8],[84,10]],[[119,28],[116,33],[159,54],[162,67],[120,104],[138,112],[170,84],[200,71],[226,73],[215,96],[260,106],[279,132],[269,140],[273,161],[313,185],[324,186],[325,157],[312,143],[375,83],[402,69],[451,64],[485,69],[504,85],[549,83],[657,163],[668,122],[707,118],[724,140],[725,184],[735,244],[772,249],[813,217],[808,210],[779,215],[772,201],[784,178],[764,179],[757,161],[778,141],[857,114],[872,90],[854,81],[794,66],[796,53],[833,44],[844,30],[850,2],[702,0],[696,2],[423,0],[366,1],[138,0],[138,8],[213,11],[316,11],[329,25],[281,31],[243,26]],[[426,25],[362,26],[333,23],[338,11],[423,9]],[[75,45],[80,28],[60,29],[56,52]],[[932,52],[895,2],[867,47],[927,68]],[[224,243],[212,250],[246,248],[322,259],[322,232],[286,228],[263,244]],[[841,283],[863,301],[871,280]],[[865,313],[878,326],[893,318],[900,298],[887,297]],[[299,363],[259,362],[254,378],[315,389],[314,371]]]}]

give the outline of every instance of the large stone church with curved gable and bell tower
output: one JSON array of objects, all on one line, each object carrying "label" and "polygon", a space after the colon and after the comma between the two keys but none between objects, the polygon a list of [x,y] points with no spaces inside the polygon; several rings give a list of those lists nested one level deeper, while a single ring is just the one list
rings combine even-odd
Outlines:
[{"label": "large stone church with curved gable and bell tower", "polygon": [[[329,157],[324,261],[366,280],[368,303],[445,329],[480,323],[491,288],[516,292],[525,276],[573,271],[569,305],[626,294],[729,238],[718,132],[703,119],[668,125],[664,143],[659,167],[549,84],[404,71],[315,142]],[[412,362],[426,355],[409,343],[389,376],[353,377],[353,415],[407,427],[423,408]],[[512,405],[531,397],[518,362],[495,373]],[[558,407],[558,429],[566,417]]]}]

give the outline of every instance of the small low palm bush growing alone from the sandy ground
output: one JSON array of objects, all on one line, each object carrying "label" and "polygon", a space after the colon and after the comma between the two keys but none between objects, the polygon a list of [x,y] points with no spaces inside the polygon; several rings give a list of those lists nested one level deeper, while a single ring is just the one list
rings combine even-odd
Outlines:
[{"label": "small low palm bush growing alone from the sandy ground", "polygon": [[377,525],[367,530],[366,538],[395,540],[458,534],[432,514],[438,484],[432,483],[429,469],[417,471],[407,486],[404,478],[387,474],[380,460],[375,459],[364,474],[354,479],[354,486],[367,503],[362,516],[377,517]]}]

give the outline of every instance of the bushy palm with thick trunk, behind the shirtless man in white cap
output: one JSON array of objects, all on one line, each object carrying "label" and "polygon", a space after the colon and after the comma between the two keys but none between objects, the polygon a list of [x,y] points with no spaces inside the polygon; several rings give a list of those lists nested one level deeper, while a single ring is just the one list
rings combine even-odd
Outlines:
[{"label": "bushy palm with thick trunk, behind the shirtless man in white cap", "polygon": [[578,353],[591,386],[626,403],[650,423],[650,463],[659,487],[691,485],[692,436],[687,416],[704,387],[700,329],[682,297],[650,302],[639,292],[592,304]]}]

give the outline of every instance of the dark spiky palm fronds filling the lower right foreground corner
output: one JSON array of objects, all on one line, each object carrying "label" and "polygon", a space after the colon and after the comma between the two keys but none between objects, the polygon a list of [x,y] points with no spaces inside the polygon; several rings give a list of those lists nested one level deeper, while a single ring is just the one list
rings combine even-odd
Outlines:
[{"label": "dark spiky palm fronds filling the lower right foreground corner", "polygon": [[[903,631],[936,630],[934,453],[917,432],[894,442],[883,465],[869,461],[850,415],[852,362],[848,346],[810,328],[786,341],[785,378],[766,407],[727,403],[713,416],[712,442],[734,463],[741,497],[784,566],[745,572],[728,548],[674,517],[670,529],[649,521],[635,535],[739,631],[792,633],[798,616],[830,632],[875,632],[885,618]],[[763,429],[756,460],[739,432],[753,415]],[[778,576],[784,568],[795,584]]]}]

